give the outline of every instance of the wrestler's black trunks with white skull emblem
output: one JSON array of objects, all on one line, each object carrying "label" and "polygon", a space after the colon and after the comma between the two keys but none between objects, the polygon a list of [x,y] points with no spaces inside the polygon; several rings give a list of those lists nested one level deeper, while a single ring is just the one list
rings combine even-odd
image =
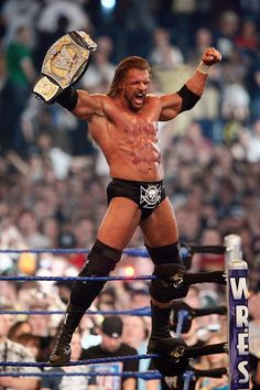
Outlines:
[{"label": "wrestler's black trunks with white skull emblem", "polygon": [[137,203],[142,212],[142,218],[148,218],[154,208],[165,199],[165,187],[160,182],[136,182],[121,178],[112,178],[107,187],[108,204],[113,197],[127,197]]}]

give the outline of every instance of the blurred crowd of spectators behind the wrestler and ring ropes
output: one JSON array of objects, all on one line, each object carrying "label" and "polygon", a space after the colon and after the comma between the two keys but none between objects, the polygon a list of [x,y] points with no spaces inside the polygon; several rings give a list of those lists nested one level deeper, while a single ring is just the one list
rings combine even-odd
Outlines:
[{"label": "blurred crowd of spectators behind the wrestler and ring ropes", "polygon": [[[113,11],[102,9],[96,0],[6,0],[0,6],[2,249],[90,248],[107,207],[107,165],[88,137],[87,123],[77,121],[57,105],[44,106],[31,95],[43,56],[56,39],[71,30],[86,30],[97,42],[98,50],[78,84],[91,93],[108,90],[116,64],[126,55],[148,57],[153,67],[152,90],[169,93],[177,90],[192,74],[205,47],[214,45],[221,52],[223,61],[210,71],[202,100],[174,121],[160,123],[160,138],[165,186],[175,208],[181,241],[223,245],[226,235],[241,237],[242,256],[249,264],[253,389],[260,386],[257,384],[260,383],[257,370],[260,356],[259,12],[260,1],[243,0],[118,0]],[[139,231],[129,247],[143,248]],[[0,273],[72,277],[78,273],[85,259],[82,253],[0,253]],[[225,259],[197,253],[191,267],[194,271],[219,270],[225,268]],[[123,256],[115,274],[128,275],[128,271],[134,275],[151,274],[153,267],[147,258]],[[2,310],[64,310],[71,288],[68,282],[1,281],[0,306]],[[224,300],[224,291],[199,285],[191,289],[186,302],[201,307],[221,304]],[[148,283],[126,281],[107,283],[94,310],[144,306],[149,306]],[[33,357],[47,360],[59,319],[58,315],[23,315],[11,319],[0,315],[3,322],[0,360],[9,360],[9,349],[10,359],[24,361],[29,355],[29,360]],[[106,351],[104,356],[118,356],[121,344],[127,344],[128,350],[144,353],[149,317],[122,316],[121,319],[116,321],[115,331],[109,325],[108,329],[106,324],[102,326],[102,316],[86,316],[75,334],[78,349],[73,358],[93,357],[91,354],[97,354],[91,349],[97,348],[95,345],[100,345],[97,356],[100,350],[101,355]],[[113,333],[116,337],[111,337]],[[225,322],[214,316],[208,322],[205,318],[194,322],[189,334],[183,336],[186,343],[196,345],[212,343],[213,337],[223,339],[225,334]],[[19,347],[13,343],[19,343]],[[89,348],[91,354],[86,353]],[[220,356],[219,361],[225,366],[226,357]],[[131,365],[131,370],[151,368],[149,361],[142,365]],[[216,367],[218,362],[202,360],[197,365]],[[118,369],[124,368],[111,367]],[[83,377],[85,382],[80,378],[74,379],[78,390],[101,386],[95,377]],[[67,386],[62,384],[61,378],[53,382],[28,378],[22,381],[0,378],[0,388],[46,390]],[[136,387],[136,380],[115,383],[113,389]],[[171,383],[171,378],[161,383],[139,380],[138,389],[166,389]],[[102,386],[106,389],[110,384]],[[198,389],[226,389],[225,386],[227,378],[221,383],[209,384],[206,380],[197,383]]]}]

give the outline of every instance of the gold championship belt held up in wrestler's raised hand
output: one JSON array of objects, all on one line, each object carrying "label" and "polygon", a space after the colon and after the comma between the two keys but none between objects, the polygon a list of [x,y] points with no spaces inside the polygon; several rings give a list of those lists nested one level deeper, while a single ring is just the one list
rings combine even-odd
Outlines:
[{"label": "gold championship belt held up in wrestler's raised hand", "polygon": [[54,102],[84,75],[89,54],[96,50],[97,44],[84,31],[72,31],[59,37],[45,54],[33,94],[46,104]]}]

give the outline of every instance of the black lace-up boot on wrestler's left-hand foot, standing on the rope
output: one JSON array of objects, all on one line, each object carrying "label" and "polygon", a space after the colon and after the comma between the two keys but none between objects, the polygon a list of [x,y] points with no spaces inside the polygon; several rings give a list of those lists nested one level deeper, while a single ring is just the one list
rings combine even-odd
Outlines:
[{"label": "black lace-up boot on wrestler's left-hand foot, standing on the rope", "polygon": [[85,311],[77,306],[72,304],[67,306],[66,316],[50,356],[52,366],[59,366],[69,361],[72,337],[84,314]]}]

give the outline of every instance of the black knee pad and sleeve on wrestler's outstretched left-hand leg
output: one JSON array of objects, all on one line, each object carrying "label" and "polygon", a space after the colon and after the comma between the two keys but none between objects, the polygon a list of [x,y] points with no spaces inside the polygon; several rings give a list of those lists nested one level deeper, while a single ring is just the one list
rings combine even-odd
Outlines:
[{"label": "black knee pad and sleeve on wrestler's outstretched left-hand leg", "polygon": [[[96,240],[78,277],[108,277],[121,259],[122,252]],[[77,281],[73,288],[71,303],[87,310],[102,290],[106,281]]]}]

